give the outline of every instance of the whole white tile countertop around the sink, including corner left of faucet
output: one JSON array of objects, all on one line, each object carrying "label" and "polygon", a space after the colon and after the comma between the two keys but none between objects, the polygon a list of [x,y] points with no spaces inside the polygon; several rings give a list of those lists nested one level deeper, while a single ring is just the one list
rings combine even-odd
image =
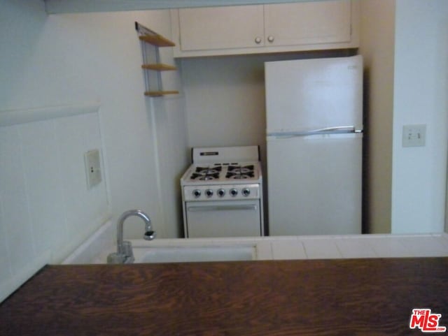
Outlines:
[{"label": "whole white tile countertop around the sink, including corner left of faucet", "polygon": [[[116,251],[115,232],[109,221],[62,263],[106,263]],[[134,248],[222,245],[253,246],[255,260],[437,257],[448,256],[448,233],[132,240]]]}]

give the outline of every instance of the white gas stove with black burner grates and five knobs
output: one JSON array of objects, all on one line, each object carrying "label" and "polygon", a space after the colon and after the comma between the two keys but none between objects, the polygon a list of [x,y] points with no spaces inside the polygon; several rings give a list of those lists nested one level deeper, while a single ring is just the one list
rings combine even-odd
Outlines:
[{"label": "white gas stove with black burner grates and five knobs", "polygon": [[186,238],[264,234],[258,146],[196,147],[181,177]]}]

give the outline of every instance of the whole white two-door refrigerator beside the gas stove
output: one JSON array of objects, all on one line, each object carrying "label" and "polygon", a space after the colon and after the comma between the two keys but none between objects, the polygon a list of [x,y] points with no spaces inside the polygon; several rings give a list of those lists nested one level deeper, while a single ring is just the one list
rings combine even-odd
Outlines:
[{"label": "whole white two-door refrigerator beside the gas stove", "polygon": [[269,235],[361,233],[363,59],[265,63]]}]

